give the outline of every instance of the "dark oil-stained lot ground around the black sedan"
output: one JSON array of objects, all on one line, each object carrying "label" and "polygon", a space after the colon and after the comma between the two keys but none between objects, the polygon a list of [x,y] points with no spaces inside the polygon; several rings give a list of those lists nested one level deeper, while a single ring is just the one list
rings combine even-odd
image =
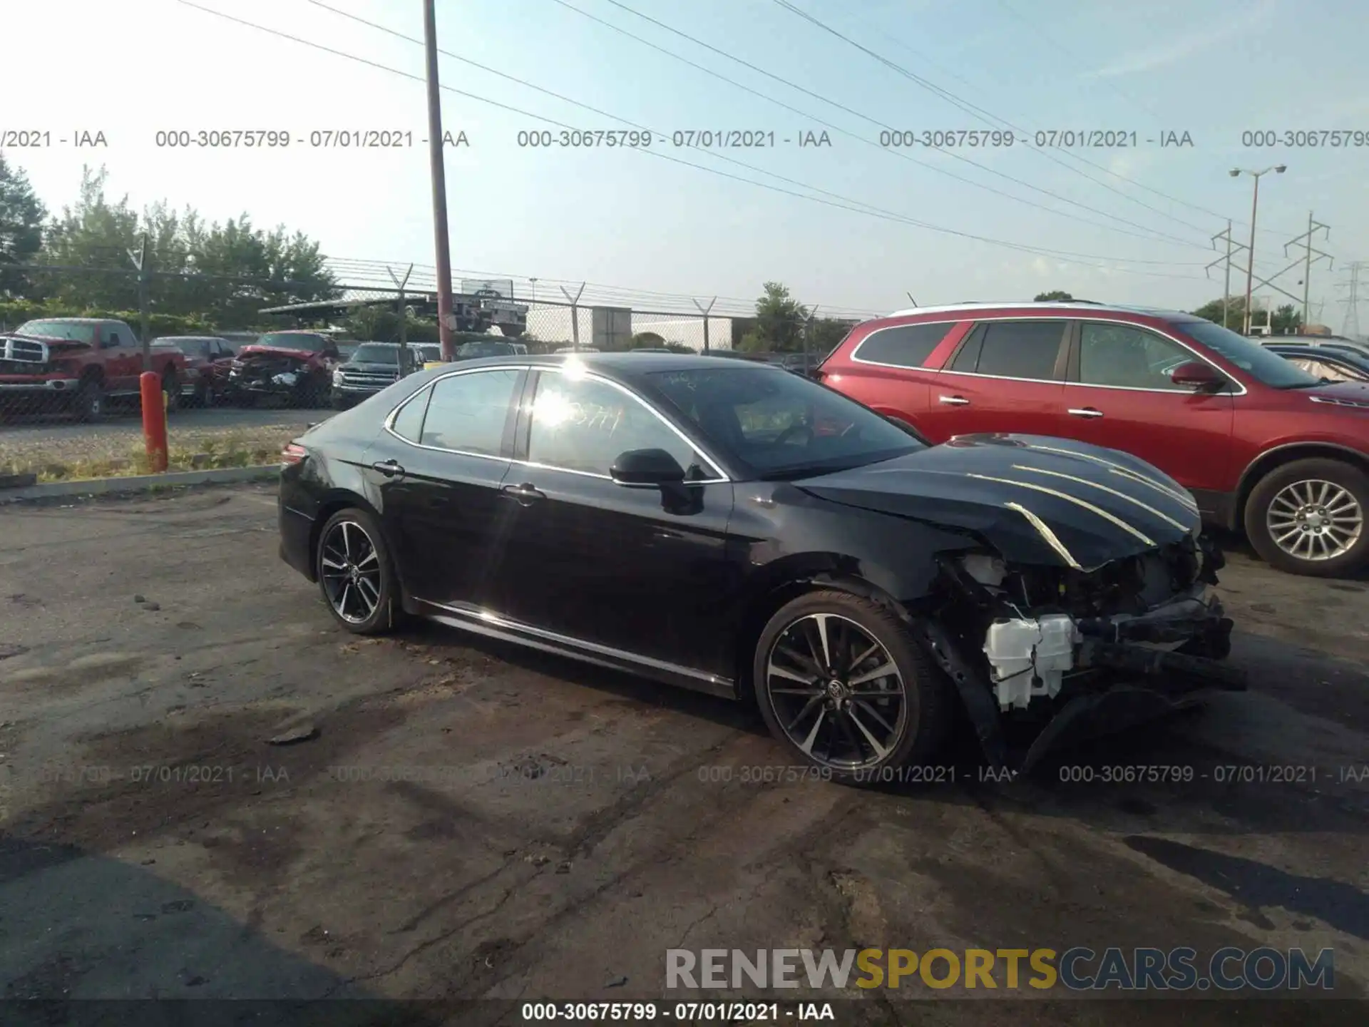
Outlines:
[{"label": "dark oil-stained lot ground around the black sedan", "polygon": [[[1236,552],[1247,693],[1029,781],[957,763],[862,791],[747,771],[791,760],[721,700],[435,626],[345,635],[279,561],[267,486],[10,507],[0,529],[4,998],[631,1001],[665,994],[675,948],[1269,945],[1333,948],[1357,1001],[1181,1020],[1365,1022],[1361,582]],[[1195,772],[1061,781],[1123,764]],[[1218,782],[1231,765],[1316,779]],[[1176,1020],[1013,994],[868,993],[838,1022]],[[450,1022],[522,1022],[482,1009]]]}]

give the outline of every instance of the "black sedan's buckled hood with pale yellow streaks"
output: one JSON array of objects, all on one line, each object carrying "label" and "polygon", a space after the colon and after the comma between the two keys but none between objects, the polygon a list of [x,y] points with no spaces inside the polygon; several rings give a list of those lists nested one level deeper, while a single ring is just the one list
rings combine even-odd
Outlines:
[{"label": "black sedan's buckled hood with pale yellow streaks", "polygon": [[1144,460],[1046,435],[961,435],[795,486],[973,531],[1009,561],[1083,570],[1183,541],[1202,523],[1192,496]]}]

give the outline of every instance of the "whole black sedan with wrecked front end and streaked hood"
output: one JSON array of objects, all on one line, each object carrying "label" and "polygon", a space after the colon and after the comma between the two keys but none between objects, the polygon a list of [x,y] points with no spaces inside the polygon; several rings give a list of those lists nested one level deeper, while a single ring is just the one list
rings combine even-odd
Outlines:
[{"label": "whole black sedan with wrecked front end and streaked hood", "polygon": [[422,371],[285,448],[279,522],[348,631],[427,618],[754,701],[847,782],[925,763],[957,712],[1021,768],[1242,687],[1221,555],[1173,479],[1057,438],[930,446],[767,364]]}]

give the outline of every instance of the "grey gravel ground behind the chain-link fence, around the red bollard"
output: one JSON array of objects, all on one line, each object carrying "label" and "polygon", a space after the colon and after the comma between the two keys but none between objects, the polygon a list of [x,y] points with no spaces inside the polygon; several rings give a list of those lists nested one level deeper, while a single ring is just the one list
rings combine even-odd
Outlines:
[{"label": "grey gravel ground behind the chain-link fence, around the red bollard", "polygon": [[[279,452],[305,424],[331,415],[331,409],[183,409],[167,422],[167,440],[172,449],[189,452],[203,452],[205,441],[212,441],[220,452],[230,444],[237,449]],[[142,422],[136,412],[112,412],[99,424],[79,424],[59,416],[30,416],[0,424],[0,467],[116,460],[141,449]]]}]

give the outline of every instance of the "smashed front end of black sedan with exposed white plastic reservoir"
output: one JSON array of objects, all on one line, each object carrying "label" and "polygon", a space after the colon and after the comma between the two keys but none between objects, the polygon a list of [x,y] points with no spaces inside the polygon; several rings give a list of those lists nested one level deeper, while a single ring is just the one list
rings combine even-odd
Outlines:
[{"label": "smashed front end of black sedan with exposed white plastic reservoir", "polygon": [[[1014,564],[991,550],[938,566],[935,613],[917,620],[919,633],[995,768],[1027,772],[1058,746],[1165,716],[1206,690],[1246,687],[1221,663],[1232,622],[1210,594],[1224,557],[1206,537],[1091,570]],[[1024,737],[1023,752],[1013,742]]]}]

